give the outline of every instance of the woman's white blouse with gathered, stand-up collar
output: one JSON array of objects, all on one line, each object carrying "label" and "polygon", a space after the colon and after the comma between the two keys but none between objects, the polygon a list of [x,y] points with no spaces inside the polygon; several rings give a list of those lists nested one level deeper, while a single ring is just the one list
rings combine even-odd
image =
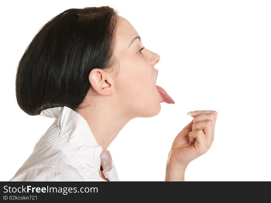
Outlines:
[{"label": "woman's white blouse with gathered, stand-up collar", "polygon": [[119,181],[109,150],[102,152],[87,121],[67,106],[42,110],[55,118],[10,181]]}]

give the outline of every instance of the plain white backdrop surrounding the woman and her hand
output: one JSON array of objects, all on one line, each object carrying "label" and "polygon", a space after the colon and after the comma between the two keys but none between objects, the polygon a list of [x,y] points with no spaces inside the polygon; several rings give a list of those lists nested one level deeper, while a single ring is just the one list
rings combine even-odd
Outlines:
[{"label": "plain white backdrop surrounding the woman and her hand", "polygon": [[108,147],[120,181],[164,181],[188,111],[218,112],[215,139],[185,181],[271,181],[270,1],[1,1],[1,173],[10,180],[54,121],[17,104],[15,75],[34,35],[69,8],[111,6],[160,55],[157,85],[175,104],[131,120]]}]

